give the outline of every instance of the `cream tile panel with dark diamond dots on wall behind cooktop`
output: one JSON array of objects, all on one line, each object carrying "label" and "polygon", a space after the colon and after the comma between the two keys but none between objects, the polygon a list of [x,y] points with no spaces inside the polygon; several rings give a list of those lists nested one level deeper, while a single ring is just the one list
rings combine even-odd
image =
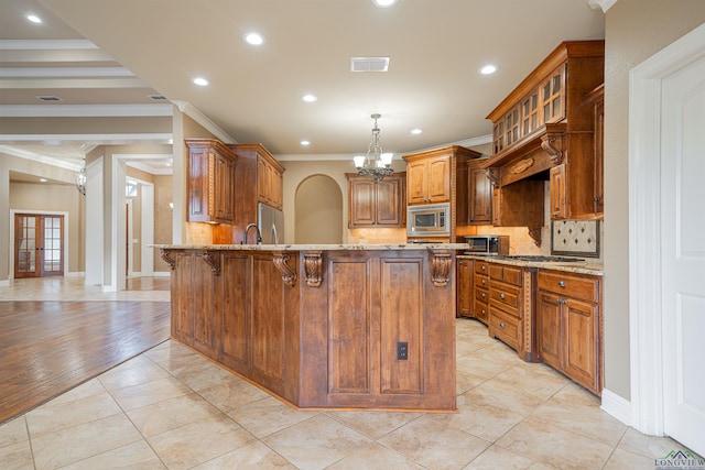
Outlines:
[{"label": "cream tile panel with dark diamond dots on wall behind cooktop", "polygon": [[552,221],[551,254],[599,258],[599,220]]}]

